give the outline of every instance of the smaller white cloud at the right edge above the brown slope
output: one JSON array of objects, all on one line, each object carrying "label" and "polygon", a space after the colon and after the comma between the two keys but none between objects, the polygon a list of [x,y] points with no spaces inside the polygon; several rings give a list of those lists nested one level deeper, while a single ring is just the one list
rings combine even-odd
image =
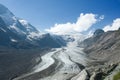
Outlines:
[{"label": "smaller white cloud at the right edge above the brown slope", "polygon": [[111,25],[105,26],[103,30],[106,32],[106,31],[118,30],[118,28],[120,28],[120,18],[113,20],[113,23]]}]

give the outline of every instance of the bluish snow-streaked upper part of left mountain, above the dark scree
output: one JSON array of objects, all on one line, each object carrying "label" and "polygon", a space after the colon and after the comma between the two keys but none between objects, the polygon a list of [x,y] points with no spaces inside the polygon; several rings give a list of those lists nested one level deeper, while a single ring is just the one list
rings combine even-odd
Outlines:
[{"label": "bluish snow-streaked upper part of left mountain, above the dark scree", "polygon": [[14,48],[56,48],[65,44],[59,44],[48,33],[41,33],[0,4],[0,45]]}]

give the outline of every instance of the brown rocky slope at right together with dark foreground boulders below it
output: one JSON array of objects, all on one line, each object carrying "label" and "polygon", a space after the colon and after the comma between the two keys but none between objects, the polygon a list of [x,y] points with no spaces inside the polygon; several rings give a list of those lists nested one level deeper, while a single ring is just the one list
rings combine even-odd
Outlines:
[{"label": "brown rocky slope at right together with dark foreground boulders below it", "polygon": [[116,67],[120,64],[120,30],[104,32],[98,29],[92,37],[79,45],[84,47],[84,52],[89,57],[103,61],[102,65],[89,67],[88,71],[92,75],[90,80],[113,80],[114,75],[119,72]]}]

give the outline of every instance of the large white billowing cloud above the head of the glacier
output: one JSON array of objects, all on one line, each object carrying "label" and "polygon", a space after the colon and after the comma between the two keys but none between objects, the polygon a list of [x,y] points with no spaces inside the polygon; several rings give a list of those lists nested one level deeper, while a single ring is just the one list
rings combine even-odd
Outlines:
[{"label": "large white billowing cloud above the head of the glacier", "polygon": [[78,33],[87,31],[93,24],[97,21],[104,19],[104,16],[99,17],[97,19],[96,14],[87,13],[87,14],[80,14],[77,21],[75,23],[67,22],[65,24],[55,24],[50,29],[46,29],[45,31],[53,34],[69,34],[69,33]]}]

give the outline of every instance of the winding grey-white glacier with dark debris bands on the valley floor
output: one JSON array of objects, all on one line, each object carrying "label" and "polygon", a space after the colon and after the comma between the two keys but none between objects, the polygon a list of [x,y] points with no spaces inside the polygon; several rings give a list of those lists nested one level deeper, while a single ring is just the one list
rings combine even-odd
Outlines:
[{"label": "winding grey-white glacier with dark debris bands on the valley floor", "polygon": [[[92,60],[90,60],[82,50],[82,48],[75,47],[75,45],[68,45],[68,47],[57,49],[55,48],[41,57],[42,61],[33,68],[33,72],[15,78],[14,80],[70,79],[71,77],[78,74],[81,70],[83,70],[85,66],[88,66],[87,63],[92,62]],[[51,66],[54,67],[51,68]],[[53,68],[54,71],[51,71]],[[51,74],[44,75],[44,73],[46,73],[45,71],[47,73],[51,72]],[[35,74],[39,75],[36,76]],[[35,75],[36,78],[34,78],[33,75]]]}]

